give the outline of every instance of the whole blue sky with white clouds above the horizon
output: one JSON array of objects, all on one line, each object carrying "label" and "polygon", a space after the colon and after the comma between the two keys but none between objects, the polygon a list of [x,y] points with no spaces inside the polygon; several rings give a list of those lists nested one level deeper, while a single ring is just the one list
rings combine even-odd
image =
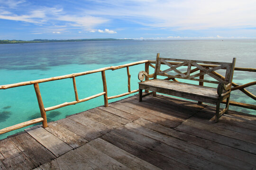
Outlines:
[{"label": "whole blue sky with white clouds above the horizon", "polygon": [[256,39],[256,0],[0,0],[0,40]]}]

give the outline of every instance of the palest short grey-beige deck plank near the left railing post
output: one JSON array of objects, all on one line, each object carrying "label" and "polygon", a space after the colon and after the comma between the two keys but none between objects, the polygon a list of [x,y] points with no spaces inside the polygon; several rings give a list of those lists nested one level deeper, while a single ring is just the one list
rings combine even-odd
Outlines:
[{"label": "palest short grey-beige deck plank near the left railing post", "polygon": [[73,149],[42,127],[31,127],[25,130],[57,157]]}]

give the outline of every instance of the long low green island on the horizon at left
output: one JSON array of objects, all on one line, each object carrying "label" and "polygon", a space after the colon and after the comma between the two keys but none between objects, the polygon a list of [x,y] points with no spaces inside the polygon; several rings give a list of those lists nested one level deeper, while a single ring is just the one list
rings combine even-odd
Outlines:
[{"label": "long low green island on the horizon at left", "polygon": [[132,40],[132,39],[96,38],[96,39],[75,39],[75,40],[41,40],[41,39],[35,39],[35,40],[31,40],[31,41],[23,41],[23,40],[0,40],[0,44],[40,43],[40,42],[127,41],[127,40]]}]

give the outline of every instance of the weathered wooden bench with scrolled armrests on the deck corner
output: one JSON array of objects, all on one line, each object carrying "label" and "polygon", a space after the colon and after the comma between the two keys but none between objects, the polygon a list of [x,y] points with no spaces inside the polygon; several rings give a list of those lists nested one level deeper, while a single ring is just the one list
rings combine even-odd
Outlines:
[{"label": "weathered wooden bench with scrolled armrests on the deck corner", "polygon": [[[171,61],[171,62],[170,62]],[[202,102],[216,104],[215,122],[218,122],[222,114],[227,113],[229,110],[229,97],[231,83],[234,73],[236,58],[233,58],[232,63],[227,62],[212,62],[200,61],[189,59],[170,59],[159,58],[159,53],[156,56],[155,73],[149,75],[145,71],[140,71],[138,78],[139,82],[139,102],[146,95],[153,93],[164,93],[191,99]],[[167,69],[161,70],[161,66],[165,65]],[[152,65],[153,66],[153,65]],[[182,70],[186,72],[182,72]],[[182,70],[179,70],[182,69]],[[221,76],[216,70],[225,69],[225,76]],[[221,70],[223,72],[223,70]],[[208,75],[207,77],[204,77]],[[144,77],[153,78],[144,80]],[[157,76],[167,76],[165,79],[158,79]],[[225,78],[224,78],[225,77]],[[176,78],[193,80],[182,83]],[[192,82],[199,81],[199,85],[191,84]],[[210,83],[209,86],[215,84],[216,87],[203,86],[203,82]],[[217,86],[217,85],[218,86]],[[151,93],[142,94],[142,90],[152,91]],[[220,102],[226,99],[226,108],[219,110]]]}]

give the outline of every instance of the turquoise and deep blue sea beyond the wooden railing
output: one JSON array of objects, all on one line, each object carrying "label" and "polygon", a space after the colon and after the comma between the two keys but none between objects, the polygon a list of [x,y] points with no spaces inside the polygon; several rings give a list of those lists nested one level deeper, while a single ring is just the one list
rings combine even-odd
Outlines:
[{"label": "turquoise and deep blue sea beyond the wooden railing", "polygon": [[[0,85],[37,80],[118,66],[144,59],[161,57],[231,62],[236,67],[256,68],[256,40],[173,40],[173,41],[105,41],[0,44]],[[138,88],[137,73],[144,65],[129,68],[131,90]],[[153,69],[150,70],[153,73]],[[255,72],[235,71],[233,82],[255,81]],[[106,71],[108,95],[128,92],[126,68]],[[101,73],[76,77],[79,99],[103,92]],[[75,101],[72,79],[39,84],[44,106]],[[256,85],[248,87],[256,94]],[[121,98],[119,98],[121,99]],[[114,102],[112,99],[109,102]],[[244,93],[234,91],[231,100],[256,104]],[[46,112],[48,121],[88,110],[104,104],[103,96],[87,102]],[[255,110],[230,106],[231,110],[256,115]],[[40,117],[33,85],[0,90],[0,129]],[[26,127],[27,128],[27,127]],[[24,129],[24,128],[23,128]],[[22,131],[0,135],[0,139]]]}]

